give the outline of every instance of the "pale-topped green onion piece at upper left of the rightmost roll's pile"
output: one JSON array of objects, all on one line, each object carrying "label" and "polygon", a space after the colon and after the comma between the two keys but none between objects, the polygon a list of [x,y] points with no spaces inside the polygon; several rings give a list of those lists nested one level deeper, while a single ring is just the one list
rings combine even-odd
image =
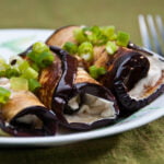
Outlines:
[{"label": "pale-topped green onion piece at upper left of the rightmost roll's pile", "polygon": [[83,28],[75,28],[73,31],[73,36],[79,44],[87,40],[87,37],[86,37]]}]

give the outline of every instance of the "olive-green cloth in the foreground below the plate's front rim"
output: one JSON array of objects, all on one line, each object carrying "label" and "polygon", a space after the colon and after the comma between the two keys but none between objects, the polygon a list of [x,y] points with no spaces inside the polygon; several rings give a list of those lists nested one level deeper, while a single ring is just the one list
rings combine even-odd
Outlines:
[{"label": "olive-green cloth in the foreground below the plate's front rim", "polygon": [[163,164],[164,119],[117,136],[54,148],[0,149],[2,164]]}]

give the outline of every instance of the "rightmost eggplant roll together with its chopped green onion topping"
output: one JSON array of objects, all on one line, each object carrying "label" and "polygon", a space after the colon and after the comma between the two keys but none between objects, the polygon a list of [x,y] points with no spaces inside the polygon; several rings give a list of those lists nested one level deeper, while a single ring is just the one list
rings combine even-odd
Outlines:
[{"label": "rightmost eggplant roll together with its chopped green onion topping", "polygon": [[113,92],[120,114],[131,114],[164,92],[164,61],[129,38],[114,26],[66,26],[46,44],[74,56],[79,67]]}]

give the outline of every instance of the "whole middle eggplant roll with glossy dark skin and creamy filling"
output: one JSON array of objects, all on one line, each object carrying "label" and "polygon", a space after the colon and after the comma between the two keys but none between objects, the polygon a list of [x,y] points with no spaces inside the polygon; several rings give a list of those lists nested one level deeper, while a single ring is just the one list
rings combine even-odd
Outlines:
[{"label": "whole middle eggplant roll with glossy dark skin and creamy filling", "polygon": [[[119,114],[113,94],[92,79],[87,72],[78,68],[78,60],[65,50],[50,46],[56,62],[61,70],[54,71],[55,65],[40,73],[43,87],[39,96],[55,112],[59,122],[66,127],[86,130],[114,122]],[[52,67],[52,68],[51,68]],[[52,77],[58,73],[60,80]],[[52,87],[51,87],[52,86]],[[49,87],[49,89],[48,89]],[[51,89],[51,91],[50,91]],[[50,98],[50,101],[48,97]]]}]

